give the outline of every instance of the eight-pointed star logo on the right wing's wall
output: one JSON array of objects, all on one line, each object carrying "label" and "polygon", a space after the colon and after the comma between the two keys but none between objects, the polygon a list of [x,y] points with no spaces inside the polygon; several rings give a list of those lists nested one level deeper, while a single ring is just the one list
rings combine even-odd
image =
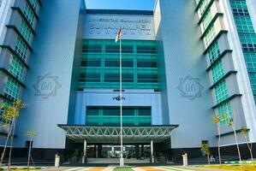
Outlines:
[{"label": "eight-pointed star logo on the right wing's wall", "polygon": [[177,89],[181,92],[181,97],[194,100],[195,98],[202,97],[204,86],[200,84],[199,78],[193,78],[188,74],[185,78],[180,79]]}]

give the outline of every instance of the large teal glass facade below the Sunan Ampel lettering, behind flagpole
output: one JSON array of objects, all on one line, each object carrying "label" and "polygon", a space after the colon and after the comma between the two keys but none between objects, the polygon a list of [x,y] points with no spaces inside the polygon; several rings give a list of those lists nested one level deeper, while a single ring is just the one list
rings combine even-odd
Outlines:
[{"label": "large teal glass facade below the Sunan Ampel lettering, behind flagpole", "polygon": [[[85,39],[80,63],[79,89],[119,88],[120,45],[114,40]],[[122,86],[159,89],[154,41],[122,40]]]}]

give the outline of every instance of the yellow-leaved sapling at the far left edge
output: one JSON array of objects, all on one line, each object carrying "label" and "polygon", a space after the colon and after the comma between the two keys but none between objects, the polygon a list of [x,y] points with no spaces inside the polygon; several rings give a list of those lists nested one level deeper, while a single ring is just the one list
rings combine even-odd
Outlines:
[{"label": "yellow-leaved sapling at the far left edge", "polygon": [[[3,152],[0,159],[0,168],[2,167],[3,157],[5,151],[7,149],[7,144],[9,142],[9,138],[13,138],[14,130],[15,130],[15,121],[16,118],[20,115],[20,110],[25,108],[25,104],[21,102],[20,99],[15,100],[13,103],[2,103],[0,105],[0,109],[3,110],[3,125],[2,127],[7,128],[7,137],[5,139],[5,144],[3,148]],[[12,141],[12,140],[11,140]],[[12,142],[11,142],[12,145]],[[10,155],[11,155],[11,148],[9,152],[9,163],[10,163]],[[10,168],[9,168],[10,169]]]}]

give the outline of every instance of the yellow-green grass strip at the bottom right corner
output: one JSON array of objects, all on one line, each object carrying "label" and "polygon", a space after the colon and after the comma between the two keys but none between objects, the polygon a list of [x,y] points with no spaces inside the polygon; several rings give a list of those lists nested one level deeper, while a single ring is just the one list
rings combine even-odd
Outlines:
[{"label": "yellow-green grass strip at the bottom right corner", "polygon": [[[199,166],[199,168],[221,168],[221,169],[226,169],[226,170],[241,170],[240,165],[222,165],[221,167],[219,165],[210,165],[210,166]],[[256,166],[255,168],[253,167],[253,165],[249,165],[249,164],[244,164],[243,165],[243,170],[246,171],[255,171],[256,170]]]}]

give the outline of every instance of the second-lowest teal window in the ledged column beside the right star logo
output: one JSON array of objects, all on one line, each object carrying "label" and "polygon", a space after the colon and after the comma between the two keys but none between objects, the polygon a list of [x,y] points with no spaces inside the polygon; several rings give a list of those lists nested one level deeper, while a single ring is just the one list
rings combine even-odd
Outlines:
[{"label": "second-lowest teal window in the ledged column beside the right star logo", "polygon": [[227,84],[225,80],[222,80],[215,86],[216,102],[221,103],[223,100],[229,97]]}]

